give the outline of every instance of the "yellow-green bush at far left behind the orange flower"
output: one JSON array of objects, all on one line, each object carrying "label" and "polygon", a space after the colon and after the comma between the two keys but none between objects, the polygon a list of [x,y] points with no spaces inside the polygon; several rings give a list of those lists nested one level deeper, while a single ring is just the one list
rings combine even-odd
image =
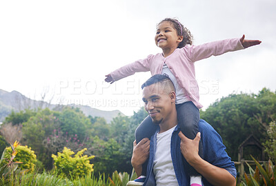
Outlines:
[{"label": "yellow-green bush at far left behind the orange flower", "polygon": [[[30,172],[34,171],[34,165],[37,162],[37,156],[34,154],[34,151],[30,147],[18,145],[16,147],[17,154],[14,158],[14,161],[22,162],[19,164],[20,169],[28,169]],[[6,148],[5,158],[9,158],[12,154],[12,147]],[[8,163],[8,161],[3,161],[3,163]]]}]

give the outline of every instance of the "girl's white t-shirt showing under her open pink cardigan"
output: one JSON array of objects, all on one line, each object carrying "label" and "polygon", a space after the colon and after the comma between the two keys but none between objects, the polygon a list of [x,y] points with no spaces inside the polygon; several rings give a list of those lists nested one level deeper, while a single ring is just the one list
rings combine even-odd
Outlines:
[{"label": "girl's white t-shirt showing under her open pink cardigan", "polygon": [[175,85],[175,94],[177,96],[177,99],[175,100],[175,104],[181,104],[181,103],[190,101],[190,98],[186,94],[184,88],[179,85],[179,83],[177,82],[177,79],[172,74],[172,72],[170,71],[166,63],[164,63],[163,65],[161,74],[167,74],[170,80],[172,81],[173,85]]}]

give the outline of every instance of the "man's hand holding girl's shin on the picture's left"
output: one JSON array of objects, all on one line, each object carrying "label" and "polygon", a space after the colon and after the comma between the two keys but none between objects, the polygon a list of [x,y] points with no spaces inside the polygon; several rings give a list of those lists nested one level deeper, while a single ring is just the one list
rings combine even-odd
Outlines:
[{"label": "man's hand holding girl's shin on the picture's left", "polygon": [[135,169],[137,176],[142,174],[142,165],[148,159],[150,155],[150,140],[148,138],[142,139],[138,144],[133,142],[133,152],[131,158],[131,164]]}]

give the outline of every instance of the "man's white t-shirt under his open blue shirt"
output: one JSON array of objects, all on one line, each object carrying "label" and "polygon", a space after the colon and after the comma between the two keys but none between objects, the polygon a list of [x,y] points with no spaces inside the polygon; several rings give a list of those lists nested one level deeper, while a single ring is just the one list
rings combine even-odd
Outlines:
[{"label": "man's white t-shirt under his open blue shirt", "polygon": [[175,169],[172,165],[172,156],[170,154],[170,140],[173,130],[175,130],[175,127],[161,134],[157,134],[157,147],[155,160],[153,161],[153,172],[157,186],[178,186]]}]

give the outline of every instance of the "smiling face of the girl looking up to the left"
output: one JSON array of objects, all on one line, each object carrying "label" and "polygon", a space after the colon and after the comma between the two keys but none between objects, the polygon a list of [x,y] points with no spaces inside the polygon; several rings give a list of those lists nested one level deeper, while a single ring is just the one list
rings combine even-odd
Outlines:
[{"label": "smiling face of the girl looking up to the left", "polygon": [[183,37],[177,35],[177,30],[170,21],[163,21],[157,25],[155,44],[162,50],[175,50],[182,40]]}]

